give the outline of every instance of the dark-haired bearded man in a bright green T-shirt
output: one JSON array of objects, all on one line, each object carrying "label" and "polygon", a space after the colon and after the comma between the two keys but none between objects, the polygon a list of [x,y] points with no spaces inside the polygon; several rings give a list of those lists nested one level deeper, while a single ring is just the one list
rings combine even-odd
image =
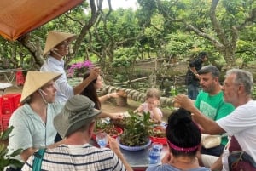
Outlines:
[{"label": "dark-haired bearded man in a bright green T-shirt", "polygon": [[[219,71],[216,66],[204,66],[198,71],[202,91],[195,100],[195,107],[214,121],[229,115],[234,106],[224,102],[222,86],[219,83]],[[221,144],[212,148],[201,148],[201,154],[219,157],[227,144],[227,136],[222,136]]]}]

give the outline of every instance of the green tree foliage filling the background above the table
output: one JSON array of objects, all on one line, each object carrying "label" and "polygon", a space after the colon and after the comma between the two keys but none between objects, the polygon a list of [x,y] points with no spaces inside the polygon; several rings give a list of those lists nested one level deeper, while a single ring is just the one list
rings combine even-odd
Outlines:
[{"label": "green tree foliage filling the background above the table", "polygon": [[[73,62],[98,61],[102,69],[109,68],[109,66],[124,66],[127,69],[126,72],[131,72],[133,70],[128,70],[128,68],[132,68],[134,59],[145,59],[156,55],[159,57],[177,56],[179,59],[190,58],[199,51],[206,50],[211,54],[210,60],[224,65],[225,54],[223,50],[216,49],[216,45],[213,45],[216,42],[195,34],[181,22],[184,20],[202,34],[220,42],[209,17],[212,1],[138,0],[137,2],[140,8],[136,11],[133,9],[113,10],[108,17],[106,15],[108,9],[97,11],[100,15],[95,19],[96,25],[90,31],[85,31],[87,34],[82,37],[79,52],[73,57]],[[112,3],[114,3],[113,0]],[[232,31],[234,31],[232,26],[244,23],[255,7],[256,1],[253,0],[219,1],[216,18],[224,31],[222,38],[227,40],[227,43],[231,43]],[[89,3],[84,1],[78,7],[32,31],[29,41],[33,47],[41,45],[44,49],[47,31],[67,31],[79,34],[81,28],[88,24],[90,15]],[[103,21],[103,19],[106,20]],[[254,21],[255,19],[247,22],[247,25],[238,32],[237,49],[234,48],[235,57],[241,58],[243,63],[253,61],[256,56],[254,53],[256,42]],[[33,64],[38,62],[38,59],[32,58],[32,54],[41,53],[39,51],[41,49],[31,53],[27,51],[27,48],[20,46],[19,42],[8,42],[0,38],[0,43],[2,45],[0,48],[2,69],[18,66],[31,69]],[[133,48],[136,53],[133,53]],[[9,62],[13,64],[8,65]]]}]

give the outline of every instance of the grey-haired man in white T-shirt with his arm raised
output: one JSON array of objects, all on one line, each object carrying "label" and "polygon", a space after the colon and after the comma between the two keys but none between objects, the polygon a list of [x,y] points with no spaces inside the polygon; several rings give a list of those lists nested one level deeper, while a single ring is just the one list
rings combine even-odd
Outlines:
[{"label": "grey-haired man in white T-shirt with his arm raised", "polygon": [[[212,121],[203,115],[185,95],[177,95],[174,100],[181,107],[194,114],[195,122],[201,125],[204,133],[227,133],[231,136],[230,145],[224,148],[222,157],[218,158],[221,159],[220,163],[216,165],[215,162],[214,167],[211,166],[212,170],[228,171],[232,169],[229,168],[228,162],[228,157],[232,151],[241,149],[256,161],[256,102],[252,97],[253,74],[240,69],[230,69],[226,72],[222,91],[224,92],[224,101],[231,103],[236,109],[218,121]],[[234,168],[239,166],[242,170],[253,170],[253,165],[248,163],[250,162],[243,164],[243,166],[239,163],[233,166]]]}]

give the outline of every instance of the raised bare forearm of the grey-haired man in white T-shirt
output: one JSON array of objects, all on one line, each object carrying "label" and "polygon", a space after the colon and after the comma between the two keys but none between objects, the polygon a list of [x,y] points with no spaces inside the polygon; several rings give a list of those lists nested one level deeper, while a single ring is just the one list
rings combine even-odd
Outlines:
[{"label": "raised bare forearm of the grey-haired man in white T-shirt", "polygon": [[193,119],[196,123],[199,123],[201,127],[204,129],[204,133],[206,134],[223,134],[225,133],[223,128],[218,126],[218,123],[212,121],[205,115],[199,111],[194,103],[189,100],[186,95],[177,95],[174,100],[181,105],[185,110],[190,111],[193,113]]}]

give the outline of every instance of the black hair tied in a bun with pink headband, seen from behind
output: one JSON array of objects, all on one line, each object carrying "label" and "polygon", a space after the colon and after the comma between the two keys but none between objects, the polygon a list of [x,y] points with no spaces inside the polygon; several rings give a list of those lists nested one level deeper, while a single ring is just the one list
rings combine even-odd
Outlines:
[{"label": "black hair tied in a bun with pink headband, seen from behind", "polygon": [[183,108],[168,117],[166,138],[173,156],[195,157],[201,145],[201,130]]}]

